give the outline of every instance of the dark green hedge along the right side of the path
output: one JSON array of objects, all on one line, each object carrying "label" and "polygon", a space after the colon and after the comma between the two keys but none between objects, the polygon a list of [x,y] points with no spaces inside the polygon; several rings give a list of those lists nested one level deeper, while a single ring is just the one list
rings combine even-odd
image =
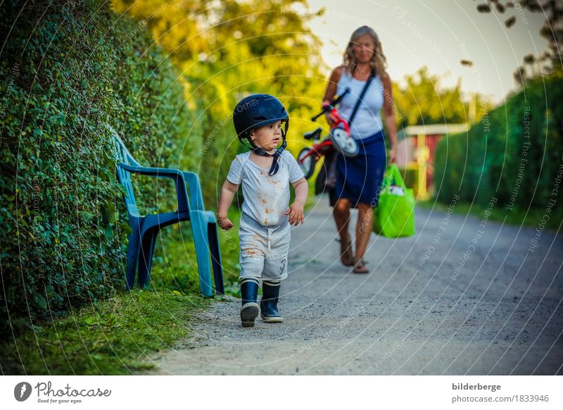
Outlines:
[{"label": "dark green hedge along the right side of the path", "polygon": [[466,134],[442,139],[435,195],[444,204],[459,194],[483,208],[495,197],[507,210],[545,209],[562,156],[563,75],[556,73],[530,82]]}]

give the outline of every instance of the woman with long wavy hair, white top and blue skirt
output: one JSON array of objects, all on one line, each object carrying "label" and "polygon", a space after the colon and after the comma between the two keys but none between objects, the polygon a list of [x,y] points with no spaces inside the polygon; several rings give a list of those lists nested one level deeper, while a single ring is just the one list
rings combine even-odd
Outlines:
[{"label": "woman with long wavy hair, white top and blue skirt", "polygon": [[[367,26],[358,28],[352,33],[344,52],[343,66],[335,68],[331,73],[323,99],[324,103],[330,103],[335,95],[341,94],[346,87],[350,88],[350,92],[339,104],[340,116],[348,120],[367,79],[374,75],[350,126],[352,137],[360,146],[360,154],[354,158],[339,155],[336,163],[337,199],[333,215],[340,234],[341,261],[345,266],[354,266],[355,273],[369,273],[363,256],[372,232],[372,207],[377,206],[379,186],[386,169],[381,108],[391,142],[388,163],[395,162],[397,155],[393,93],[385,67],[386,59],[376,32]],[[327,113],[326,117],[329,125],[336,121],[330,113]],[[359,212],[355,256],[348,232],[350,207],[358,208]]]}]

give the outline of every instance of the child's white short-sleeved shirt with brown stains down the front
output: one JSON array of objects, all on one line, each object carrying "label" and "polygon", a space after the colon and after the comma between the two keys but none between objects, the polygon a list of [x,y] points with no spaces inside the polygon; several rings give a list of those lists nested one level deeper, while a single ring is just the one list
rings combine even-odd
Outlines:
[{"label": "child's white short-sleeved shirt with brown stains down the front", "polygon": [[270,167],[260,168],[251,161],[250,154],[248,151],[236,156],[227,180],[242,184],[243,213],[264,226],[277,225],[286,218],[289,208],[289,184],[301,180],[303,171],[291,153],[283,151],[277,160],[279,170],[270,176]]}]

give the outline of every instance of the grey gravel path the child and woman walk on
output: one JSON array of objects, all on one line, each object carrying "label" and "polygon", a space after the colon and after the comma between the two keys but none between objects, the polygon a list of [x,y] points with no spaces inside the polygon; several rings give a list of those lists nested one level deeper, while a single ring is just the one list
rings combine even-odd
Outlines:
[{"label": "grey gravel path the child and woman walk on", "polygon": [[242,328],[240,302],[217,302],[147,373],[563,373],[562,235],[417,208],[417,235],[372,235],[358,275],[327,201],[293,228],[284,323]]}]

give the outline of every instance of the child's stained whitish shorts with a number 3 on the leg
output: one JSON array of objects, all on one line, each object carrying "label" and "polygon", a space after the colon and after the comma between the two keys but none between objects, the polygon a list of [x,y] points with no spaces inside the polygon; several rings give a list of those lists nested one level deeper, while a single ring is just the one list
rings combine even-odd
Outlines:
[{"label": "child's stained whitish shorts with a number 3 on the leg", "polygon": [[243,213],[239,226],[241,280],[287,278],[290,239],[291,225],[287,219],[277,226],[267,227]]}]

